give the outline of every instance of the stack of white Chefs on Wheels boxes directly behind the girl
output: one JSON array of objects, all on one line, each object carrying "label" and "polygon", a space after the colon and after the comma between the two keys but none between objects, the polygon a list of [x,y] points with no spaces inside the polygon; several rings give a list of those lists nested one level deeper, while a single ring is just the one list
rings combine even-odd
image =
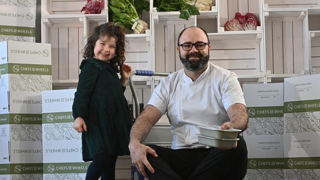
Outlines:
[{"label": "stack of white Chefs on Wheels boxes directly behind the girl", "polygon": [[90,163],[82,161],[81,133],[73,129],[75,89],[42,92],[44,180],[84,180]]}]

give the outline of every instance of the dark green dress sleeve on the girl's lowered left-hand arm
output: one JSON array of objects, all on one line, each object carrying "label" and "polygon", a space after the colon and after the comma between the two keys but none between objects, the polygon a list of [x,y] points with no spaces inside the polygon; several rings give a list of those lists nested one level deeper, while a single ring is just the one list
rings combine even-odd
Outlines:
[{"label": "dark green dress sleeve on the girl's lowered left-hand arm", "polygon": [[81,117],[86,121],[89,115],[88,107],[90,96],[95,88],[99,69],[95,66],[95,64],[86,60],[83,60],[80,65],[80,69],[81,73],[79,75],[78,88],[74,93],[72,114],[74,119]]}]

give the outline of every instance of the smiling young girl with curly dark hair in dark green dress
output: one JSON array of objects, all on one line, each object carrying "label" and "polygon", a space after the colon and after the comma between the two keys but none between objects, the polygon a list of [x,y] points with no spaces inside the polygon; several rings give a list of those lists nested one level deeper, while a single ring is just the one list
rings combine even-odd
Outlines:
[{"label": "smiling young girl with curly dark hair in dark green dress", "polygon": [[[115,179],[118,155],[128,150],[131,128],[124,96],[131,67],[125,61],[124,30],[113,23],[95,28],[81,62],[72,106],[73,127],[82,132],[82,157],[91,161],[86,180]],[[121,72],[121,78],[117,75]]]}]

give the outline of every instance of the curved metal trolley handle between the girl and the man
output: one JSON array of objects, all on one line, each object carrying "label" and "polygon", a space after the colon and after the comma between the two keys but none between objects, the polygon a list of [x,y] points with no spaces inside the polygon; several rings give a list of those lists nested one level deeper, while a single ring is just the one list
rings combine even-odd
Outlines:
[{"label": "curved metal trolley handle between the girl and the man", "polygon": [[163,72],[153,72],[153,71],[147,71],[147,70],[135,70],[131,71],[130,78],[129,78],[129,85],[130,89],[133,95],[134,99],[134,106],[135,106],[135,118],[138,117],[139,115],[139,102],[138,102],[138,97],[137,93],[134,89],[133,81],[132,81],[132,76],[137,75],[137,76],[168,76],[170,73],[163,73]]}]

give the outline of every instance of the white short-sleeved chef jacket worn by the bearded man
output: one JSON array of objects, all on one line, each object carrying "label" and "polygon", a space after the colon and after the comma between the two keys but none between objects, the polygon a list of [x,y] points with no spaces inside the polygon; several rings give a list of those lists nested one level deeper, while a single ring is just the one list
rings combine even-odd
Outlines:
[{"label": "white short-sleeved chef jacket worn by the bearded man", "polygon": [[229,121],[226,109],[235,103],[245,105],[237,75],[210,62],[195,82],[184,69],[162,78],[148,102],[162,115],[167,112],[173,133],[171,149],[206,147],[195,135],[200,133],[199,126]]}]

